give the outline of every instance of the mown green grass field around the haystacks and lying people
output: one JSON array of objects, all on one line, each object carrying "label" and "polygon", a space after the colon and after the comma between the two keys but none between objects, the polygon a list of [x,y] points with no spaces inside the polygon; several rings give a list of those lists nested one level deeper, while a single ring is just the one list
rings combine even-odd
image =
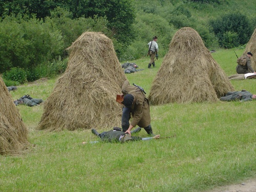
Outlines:
[{"label": "mown green grass field around the haystacks and lying people", "polygon": [[[212,56],[227,75],[236,73],[233,50],[217,50]],[[145,70],[126,74],[147,95],[163,58],[152,70],[148,60],[129,61]],[[29,94],[46,100],[55,81],[25,84],[11,94],[13,99]],[[256,79],[231,82],[238,91],[256,93]],[[99,139],[90,130],[36,131],[43,106],[18,105],[34,147],[19,156],[0,157],[0,191],[204,191],[255,177],[255,104],[151,106],[154,133],[176,137],[84,145],[82,141]],[[147,137],[144,130],[136,135]]]}]

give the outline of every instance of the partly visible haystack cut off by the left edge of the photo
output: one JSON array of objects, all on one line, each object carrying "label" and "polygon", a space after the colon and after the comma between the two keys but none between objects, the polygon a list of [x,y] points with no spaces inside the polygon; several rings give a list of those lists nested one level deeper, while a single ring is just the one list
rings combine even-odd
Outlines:
[{"label": "partly visible haystack cut off by the left edge of the photo", "polygon": [[16,155],[28,147],[28,130],[0,77],[0,155]]}]

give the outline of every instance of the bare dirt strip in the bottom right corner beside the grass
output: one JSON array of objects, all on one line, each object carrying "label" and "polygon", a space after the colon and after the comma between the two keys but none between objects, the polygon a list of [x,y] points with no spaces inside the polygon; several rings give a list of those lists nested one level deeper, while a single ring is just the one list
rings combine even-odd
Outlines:
[{"label": "bare dirt strip in the bottom right corner beside the grass", "polygon": [[256,192],[256,178],[252,178],[234,185],[216,187],[207,192]]}]

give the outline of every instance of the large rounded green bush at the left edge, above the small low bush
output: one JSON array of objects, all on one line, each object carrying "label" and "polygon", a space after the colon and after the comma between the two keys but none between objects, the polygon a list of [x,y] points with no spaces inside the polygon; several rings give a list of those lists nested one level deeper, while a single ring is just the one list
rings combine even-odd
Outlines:
[{"label": "large rounded green bush at the left edge, above the small low bush", "polygon": [[0,72],[33,68],[63,54],[60,31],[36,18],[6,17],[0,23]]}]

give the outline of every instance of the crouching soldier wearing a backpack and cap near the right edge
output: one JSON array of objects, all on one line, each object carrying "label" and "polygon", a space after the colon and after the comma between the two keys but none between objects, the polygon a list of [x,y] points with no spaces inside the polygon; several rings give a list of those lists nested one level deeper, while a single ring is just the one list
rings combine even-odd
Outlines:
[{"label": "crouching soldier wearing a backpack and cap near the right edge", "polygon": [[244,56],[243,58],[242,57],[238,58],[238,61],[237,61],[238,65],[236,68],[238,74],[256,73],[251,67],[251,59],[250,59],[251,57],[252,57],[252,53],[248,52],[246,56]]}]

